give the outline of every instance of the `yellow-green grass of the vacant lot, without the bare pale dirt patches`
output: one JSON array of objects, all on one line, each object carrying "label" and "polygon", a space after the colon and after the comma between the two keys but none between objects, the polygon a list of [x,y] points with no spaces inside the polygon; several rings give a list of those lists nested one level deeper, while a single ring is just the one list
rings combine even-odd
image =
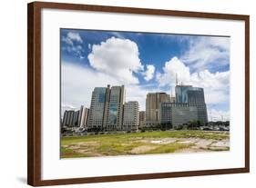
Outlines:
[{"label": "yellow-green grass of the vacant lot, without the bare pale dirt patches", "polygon": [[[178,150],[189,148],[193,143],[150,143],[150,141],[166,138],[177,138],[177,140],[179,140],[179,138],[200,138],[206,140],[210,139],[216,142],[223,139],[229,140],[229,137],[230,135],[228,133],[183,130],[62,137],[61,145],[65,147],[61,147],[61,157],[73,158],[99,155],[174,153]],[[133,153],[132,150],[139,146],[151,146],[152,149]],[[229,150],[229,148],[219,148],[219,150],[220,149],[221,151]],[[219,151],[218,148],[216,148],[216,150],[214,148],[209,150]]]}]

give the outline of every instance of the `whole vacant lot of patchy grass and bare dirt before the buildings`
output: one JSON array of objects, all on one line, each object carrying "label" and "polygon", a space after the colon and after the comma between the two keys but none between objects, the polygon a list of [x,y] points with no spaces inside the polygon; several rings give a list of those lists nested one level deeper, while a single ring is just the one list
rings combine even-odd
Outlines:
[{"label": "whole vacant lot of patchy grass and bare dirt before the buildings", "polygon": [[229,132],[165,131],[61,138],[62,158],[229,150]]}]

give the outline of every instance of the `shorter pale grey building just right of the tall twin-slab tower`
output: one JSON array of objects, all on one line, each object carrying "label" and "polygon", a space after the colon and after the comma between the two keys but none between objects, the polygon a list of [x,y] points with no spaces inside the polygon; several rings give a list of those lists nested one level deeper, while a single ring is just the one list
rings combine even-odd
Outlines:
[{"label": "shorter pale grey building just right of the tall twin-slab tower", "polygon": [[137,131],[138,130],[138,102],[130,101],[124,105],[123,130]]}]

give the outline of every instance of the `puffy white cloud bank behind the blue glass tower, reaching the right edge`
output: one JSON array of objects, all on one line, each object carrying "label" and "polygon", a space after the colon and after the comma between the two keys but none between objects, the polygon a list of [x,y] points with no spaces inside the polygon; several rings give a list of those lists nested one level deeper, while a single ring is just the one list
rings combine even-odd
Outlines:
[{"label": "puffy white cloud bank behind the blue glass tower, reaching the right edge", "polygon": [[179,84],[191,84],[195,87],[203,87],[206,104],[229,103],[230,71],[210,73],[208,70],[190,74],[189,67],[183,64],[177,57],[173,57],[163,67],[163,74],[157,74],[160,86],[174,87],[175,77],[178,74]]}]

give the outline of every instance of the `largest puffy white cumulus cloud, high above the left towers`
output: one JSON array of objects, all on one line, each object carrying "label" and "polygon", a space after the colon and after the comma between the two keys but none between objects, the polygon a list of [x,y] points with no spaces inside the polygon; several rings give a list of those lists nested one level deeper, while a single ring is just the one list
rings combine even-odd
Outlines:
[{"label": "largest puffy white cumulus cloud, high above the left towers", "polygon": [[138,84],[134,73],[143,69],[138,55],[136,43],[111,37],[100,45],[92,45],[92,52],[87,57],[97,71],[115,76],[123,84]]}]

